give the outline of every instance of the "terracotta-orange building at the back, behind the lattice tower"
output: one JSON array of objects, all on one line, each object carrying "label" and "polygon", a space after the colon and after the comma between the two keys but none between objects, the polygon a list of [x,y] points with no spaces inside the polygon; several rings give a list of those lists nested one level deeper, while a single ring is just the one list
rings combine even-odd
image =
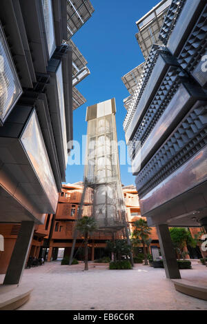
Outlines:
[{"label": "terracotta-orange building at the back, behind the lattice tower", "polygon": [[[128,225],[130,227],[130,232],[133,230],[132,222],[136,221],[141,217],[140,207],[139,207],[139,197],[134,186],[123,187],[124,200],[126,205],[126,212],[128,218]],[[93,195],[94,190],[89,188],[86,192],[83,206],[82,216],[92,215],[92,205],[93,205]],[[36,258],[43,257],[47,261],[52,261],[57,259],[60,255],[60,250],[64,250],[63,256],[70,256],[72,240],[75,228],[75,222],[78,219],[79,207],[81,204],[81,196],[83,194],[83,183],[73,183],[63,185],[62,191],[59,194],[59,203],[57,207],[57,212],[53,218],[52,223],[50,223],[50,235],[47,233],[45,239],[50,236],[50,243],[48,247],[41,246],[40,250],[36,248],[36,254],[32,254],[30,250],[30,256],[35,256]],[[50,215],[48,215],[50,217]],[[44,225],[39,225],[37,227],[37,232],[34,232],[36,236],[39,232],[43,232]],[[111,235],[103,233],[96,233],[90,237],[89,240],[89,251],[88,256],[90,261],[95,261],[106,256],[107,252],[105,250],[106,241],[112,239]],[[159,241],[156,233],[156,229],[152,229],[150,235],[152,239],[151,246],[159,247]],[[75,244],[74,257],[78,260],[83,260],[83,237],[78,236]],[[32,247],[31,247],[32,249]],[[142,252],[142,247],[140,246],[140,252]]]}]

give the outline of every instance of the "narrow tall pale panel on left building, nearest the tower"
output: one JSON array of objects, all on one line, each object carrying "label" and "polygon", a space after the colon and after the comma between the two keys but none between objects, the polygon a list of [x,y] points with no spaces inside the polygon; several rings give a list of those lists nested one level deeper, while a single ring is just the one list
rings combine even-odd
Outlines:
[{"label": "narrow tall pale panel on left building, nearest the tower", "polygon": [[63,92],[63,73],[62,63],[60,63],[57,70],[57,91],[59,100],[59,112],[61,117],[61,129],[63,136],[63,148],[65,154],[65,163],[68,163],[68,149],[67,149],[67,135],[66,135],[66,114],[65,114],[65,103],[64,103],[64,92]]}]

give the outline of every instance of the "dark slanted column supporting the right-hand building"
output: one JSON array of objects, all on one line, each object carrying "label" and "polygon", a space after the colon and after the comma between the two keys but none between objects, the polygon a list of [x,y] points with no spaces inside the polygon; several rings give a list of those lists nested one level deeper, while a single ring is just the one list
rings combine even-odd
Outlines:
[{"label": "dark slanted column supporting the right-hand building", "polygon": [[157,234],[159,237],[159,245],[161,248],[161,256],[164,261],[166,277],[169,279],[181,279],[168,225],[157,225]]}]

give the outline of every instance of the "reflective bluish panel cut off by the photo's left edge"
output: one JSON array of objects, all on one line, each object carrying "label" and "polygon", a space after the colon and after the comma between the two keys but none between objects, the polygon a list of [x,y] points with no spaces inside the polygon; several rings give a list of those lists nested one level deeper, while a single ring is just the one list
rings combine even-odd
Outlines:
[{"label": "reflective bluish panel cut off by the photo's left edge", "polygon": [[2,123],[21,93],[21,85],[0,26],[0,121]]}]

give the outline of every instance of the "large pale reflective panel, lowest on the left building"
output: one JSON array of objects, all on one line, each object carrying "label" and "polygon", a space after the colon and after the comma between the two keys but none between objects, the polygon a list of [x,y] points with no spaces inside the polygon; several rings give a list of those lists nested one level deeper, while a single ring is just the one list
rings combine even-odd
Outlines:
[{"label": "large pale reflective panel, lowest on the left building", "polygon": [[34,168],[34,171],[37,173],[39,181],[45,190],[52,207],[55,210],[58,200],[57,186],[52,174],[48,153],[46,151],[46,146],[43,141],[43,136],[41,134],[39,121],[35,111],[32,112],[26,128],[21,135],[21,143],[28,154],[30,163]]}]

